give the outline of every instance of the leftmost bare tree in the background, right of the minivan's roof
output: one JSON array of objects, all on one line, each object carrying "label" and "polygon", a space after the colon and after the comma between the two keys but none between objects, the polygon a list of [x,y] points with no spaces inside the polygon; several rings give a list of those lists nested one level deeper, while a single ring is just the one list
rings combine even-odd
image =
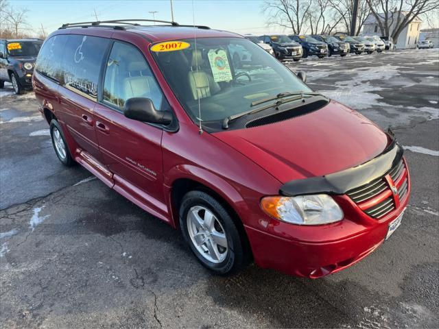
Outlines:
[{"label": "leftmost bare tree in the background, right of the minivan's roof", "polygon": [[291,28],[294,34],[305,31],[312,0],[269,0],[263,4],[269,25]]}]

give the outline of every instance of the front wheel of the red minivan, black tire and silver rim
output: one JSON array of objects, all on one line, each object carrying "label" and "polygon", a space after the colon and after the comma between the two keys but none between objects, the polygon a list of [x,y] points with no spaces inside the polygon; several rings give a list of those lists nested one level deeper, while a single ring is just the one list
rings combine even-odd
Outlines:
[{"label": "front wheel of the red minivan, black tire and silver rim", "polygon": [[244,266],[244,247],[232,217],[202,191],[187,193],[180,205],[180,228],[200,263],[225,276]]}]

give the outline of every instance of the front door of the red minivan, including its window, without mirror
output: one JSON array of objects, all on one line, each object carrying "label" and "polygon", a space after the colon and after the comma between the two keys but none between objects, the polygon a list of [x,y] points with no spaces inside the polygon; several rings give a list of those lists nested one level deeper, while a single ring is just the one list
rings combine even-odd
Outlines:
[{"label": "front door of the red minivan, including its window, without mirror", "polygon": [[150,98],[159,110],[167,104],[139,49],[115,41],[108,56],[103,89],[102,101],[95,107],[95,125],[102,159],[114,173],[114,188],[163,218],[167,213],[163,195],[163,129],[123,115],[125,101],[132,97]]}]

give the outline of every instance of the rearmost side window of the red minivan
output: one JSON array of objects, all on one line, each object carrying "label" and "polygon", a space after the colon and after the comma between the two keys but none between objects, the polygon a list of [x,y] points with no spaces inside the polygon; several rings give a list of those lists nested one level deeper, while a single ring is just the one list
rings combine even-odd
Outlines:
[{"label": "rearmost side window of the red minivan", "polygon": [[52,36],[38,53],[35,69],[39,73],[60,82],[62,80],[61,60],[68,36]]}]

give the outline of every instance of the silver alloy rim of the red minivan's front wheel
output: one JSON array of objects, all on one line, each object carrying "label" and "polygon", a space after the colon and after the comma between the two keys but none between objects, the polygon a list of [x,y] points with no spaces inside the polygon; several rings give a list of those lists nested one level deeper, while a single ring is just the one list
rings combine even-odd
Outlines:
[{"label": "silver alloy rim of the red minivan's front wheel", "polygon": [[228,255],[226,231],[211,210],[193,206],[187,212],[187,230],[191,242],[203,258],[222,263]]}]

